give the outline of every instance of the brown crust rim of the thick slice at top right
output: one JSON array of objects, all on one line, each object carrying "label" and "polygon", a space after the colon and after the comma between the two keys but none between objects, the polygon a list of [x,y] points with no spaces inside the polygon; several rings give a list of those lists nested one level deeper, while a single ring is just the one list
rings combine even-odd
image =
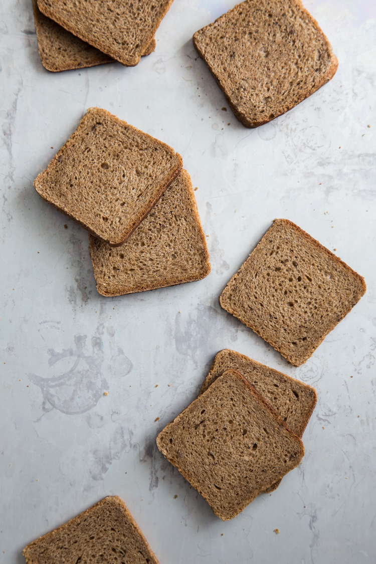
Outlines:
[{"label": "brown crust rim of the thick slice at top right", "polygon": [[[328,41],[328,38],[325,36],[324,32],[322,31],[322,29],[320,28],[319,24],[317,23],[317,21],[315,20],[315,18],[309,14],[308,10],[306,10],[306,8],[304,8],[302,2],[300,0],[295,0],[295,2],[297,3],[298,7],[300,8],[300,10],[302,10],[304,12],[304,14],[306,14],[309,19],[312,21],[313,27],[315,27],[315,29],[322,35],[322,37],[324,37],[325,41],[326,41],[326,46],[328,48],[328,52],[330,54],[330,59],[331,59],[331,66],[329,67],[329,69],[327,70],[327,72],[324,74],[324,76],[322,77],[321,82],[319,83],[319,85],[316,88],[312,88],[309,90],[306,90],[302,93],[302,95],[300,96],[300,98],[298,99],[298,102],[294,103],[294,104],[290,104],[289,107],[287,109],[285,109],[284,112],[280,112],[277,113],[274,117],[272,117],[269,120],[263,120],[263,121],[253,121],[250,120],[247,117],[247,114],[242,113],[238,110],[237,105],[235,102],[233,102],[233,100],[229,97],[230,95],[228,94],[228,92],[225,91],[225,87],[220,83],[219,78],[216,77],[214,70],[211,68],[210,64],[207,62],[207,60],[205,59],[205,55],[202,52],[202,50],[200,49],[200,46],[198,45],[198,33],[202,32],[202,30],[209,28],[211,25],[213,24],[208,24],[205,25],[204,28],[199,29],[196,33],[193,34],[192,37],[192,41],[193,41],[193,46],[194,49],[196,49],[198,55],[200,56],[201,59],[203,59],[207,65],[207,68],[210,70],[211,75],[215,78],[216,83],[218,84],[220,90],[222,90],[224,97],[229,105],[229,107],[232,109],[235,117],[237,118],[238,121],[241,122],[242,125],[244,125],[245,127],[250,127],[251,129],[254,129],[255,127],[259,127],[260,125],[265,125],[268,124],[269,121],[273,121],[275,120],[277,117],[279,116],[283,116],[286,112],[289,112],[291,109],[295,108],[295,106],[297,106],[298,104],[300,104],[301,102],[303,102],[303,100],[306,100],[306,98],[309,98],[309,96],[311,96],[312,94],[314,94],[314,92],[316,92],[317,90],[319,90],[322,86],[324,86],[327,82],[329,82],[331,80],[331,78],[334,77],[334,74],[337,72],[338,69],[338,59],[337,57],[334,55],[333,50],[331,48],[330,42]],[[234,8],[232,8],[233,10]],[[231,12],[232,10],[228,10],[228,12]],[[223,14],[222,16],[218,17],[216,20],[214,20],[214,23],[220,19],[222,19],[223,17],[225,17],[228,12],[225,12],[225,14]]]}]

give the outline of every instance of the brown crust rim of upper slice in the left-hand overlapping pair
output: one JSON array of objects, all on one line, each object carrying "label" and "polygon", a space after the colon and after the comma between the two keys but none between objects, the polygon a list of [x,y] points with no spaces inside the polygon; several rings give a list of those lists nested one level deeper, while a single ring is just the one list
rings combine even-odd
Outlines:
[{"label": "brown crust rim of upper slice in the left-hand overlapping pair", "polygon": [[[167,149],[169,149],[169,151],[172,151],[175,155],[175,158],[177,158],[178,160],[178,164],[176,165],[175,169],[172,169],[171,173],[170,173],[170,177],[167,177],[167,179],[165,179],[165,182],[161,184],[160,186],[160,190],[157,192],[157,196],[153,199],[152,204],[150,205],[150,207],[147,209],[147,211],[145,211],[144,214],[141,214],[138,216],[138,218],[135,219],[135,221],[131,224],[130,228],[126,231],[123,231],[123,234],[121,235],[121,237],[119,237],[117,240],[115,241],[109,241],[108,239],[103,239],[103,237],[101,237],[100,235],[98,235],[98,233],[96,233],[95,231],[92,231],[92,229],[84,222],[80,221],[79,219],[77,219],[76,217],[74,217],[72,214],[68,213],[67,210],[65,210],[64,208],[60,208],[60,206],[58,206],[57,204],[54,204],[53,202],[51,202],[47,196],[41,194],[38,190],[38,184],[39,182],[43,182],[43,180],[41,179],[41,177],[45,174],[45,171],[48,170],[48,167],[50,166],[51,162],[53,160],[55,160],[56,158],[59,157],[59,155],[63,154],[65,151],[65,147],[67,146],[68,143],[70,143],[73,139],[74,136],[76,135],[78,129],[80,128],[82,121],[85,119],[85,117],[87,116],[87,114],[92,113],[92,112],[96,112],[97,114],[102,113],[102,114],[107,114],[107,116],[110,116],[113,120],[120,122],[120,124],[122,126],[127,126],[127,127],[131,127],[131,129],[134,129],[136,131],[138,131],[139,133],[141,133],[142,135],[145,135],[146,137],[149,137],[151,139],[153,139],[154,141],[158,141],[158,143],[161,144],[162,147],[165,147]],[[96,108],[96,107],[91,107],[87,110],[85,116],[82,117],[81,121],[79,122],[76,130],[72,133],[72,135],[70,135],[69,139],[64,143],[63,147],[61,147],[59,149],[59,151],[57,151],[56,155],[54,157],[52,157],[50,163],[47,165],[47,169],[43,170],[41,173],[38,174],[37,178],[34,180],[34,188],[36,190],[36,192],[38,193],[39,196],[41,196],[41,198],[43,200],[45,200],[48,204],[50,204],[51,206],[54,206],[54,208],[56,208],[57,210],[61,211],[61,213],[67,215],[70,219],[73,219],[73,221],[75,221],[76,223],[78,223],[78,225],[80,225],[81,227],[83,227],[86,231],[88,231],[89,233],[91,233],[91,235],[94,235],[94,237],[96,237],[96,239],[99,239],[100,241],[103,241],[104,243],[108,243],[111,246],[117,247],[122,245],[123,243],[125,243],[125,241],[132,235],[132,233],[134,232],[134,230],[136,229],[136,227],[139,226],[139,224],[141,223],[141,221],[143,221],[143,219],[148,215],[149,211],[153,208],[154,205],[156,205],[157,201],[160,200],[160,198],[163,196],[163,193],[165,193],[165,191],[167,190],[167,188],[170,186],[170,184],[172,182],[174,182],[175,178],[179,176],[180,171],[183,168],[183,160],[182,157],[179,155],[179,153],[175,153],[174,149],[172,149],[171,147],[169,147],[166,143],[163,143],[162,141],[160,141],[159,139],[156,139],[154,137],[152,137],[151,135],[148,135],[147,133],[144,133],[144,131],[141,131],[140,129],[137,129],[137,127],[134,127],[130,124],[127,124],[126,121],[120,120],[120,118],[118,118],[117,116],[114,116],[112,113],[108,112],[105,109],[101,109],[101,108]],[[39,179],[39,180],[38,180]]]}]

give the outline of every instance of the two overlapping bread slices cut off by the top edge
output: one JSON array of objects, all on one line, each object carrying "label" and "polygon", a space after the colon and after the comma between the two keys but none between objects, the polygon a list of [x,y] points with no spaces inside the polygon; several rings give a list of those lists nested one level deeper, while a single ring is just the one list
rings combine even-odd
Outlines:
[{"label": "two overlapping bread slices cut off by the top edge", "polygon": [[39,55],[47,70],[119,63],[134,67],[156,47],[154,34],[172,0],[32,0]]}]

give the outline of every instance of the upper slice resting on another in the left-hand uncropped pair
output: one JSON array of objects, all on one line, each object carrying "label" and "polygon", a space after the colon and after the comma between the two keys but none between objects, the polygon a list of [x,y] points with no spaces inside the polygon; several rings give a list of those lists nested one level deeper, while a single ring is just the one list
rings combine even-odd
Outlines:
[{"label": "upper slice resting on another in the left-hand uncropped pair", "polygon": [[165,143],[89,108],[34,187],[98,239],[124,243],[179,175],[182,157]]}]

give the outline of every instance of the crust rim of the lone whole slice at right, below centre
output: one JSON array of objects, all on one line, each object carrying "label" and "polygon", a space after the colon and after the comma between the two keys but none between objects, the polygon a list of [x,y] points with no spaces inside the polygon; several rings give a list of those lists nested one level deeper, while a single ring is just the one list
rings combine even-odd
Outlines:
[{"label": "crust rim of the lone whole slice at right, below centre", "polygon": [[[334,327],[337,327],[337,325],[340,323],[340,321],[342,321],[342,319],[344,319],[346,317],[346,315],[348,313],[350,313],[350,311],[352,310],[352,308],[357,304],[357,302],[359,302],[360,298],[362,296],[364,296],[365,292],[366,292],[366,284],[364,281],[364,278],[358,274],[357,272],[355,272],[355,270],[352,270],[352,268],[350,266],[348,266],[346,264],[346,262],[341,261],[340,258],[336,257],[335,254],[331,253],[329,249],[327,249],[324,245],[321,245],[321,243],[319,243],[319,241],[317,241],[316,239],[313,239],[313,237],[311,235],[309,235],[306,231],[303,231],[300,227],[298,227],[295,223],[293,223],[292,221],[290,221],[289,219],[275,219],[273,221],[273,225],[272,227],[276,224],[276,223],[282,223],[282,224],[288,224],[290,227],[292,227],[295,231],[297,231],[300,235],[302,235],[304,237],[304,239],[306,239],[307,241],[309,241],[309,243],[313,244],[316,246],[317,249],[319,249],[321,252],[325,252],[326,255],[328,255],[328,257],[332,260],[334,260],[335,263],[343,266],[345,268],[346,271],[348,271],[348,273],[355,277],[361,285],[362,288],[362,293],[360,295],[360,297],[357,299],[357,301],[350,307],[350,309],[348,309],[344,315],[342,316],[342,318],[339,319],[339,321],[337,321],[337,323],[334,325]],[[269,227],[269,229],[271,229],[271,227]],[[238,315],[238,313],[235,313],[231,310],[230,307],[228,307],[227,304],[224,303],[225,300],[225,292],[227,290],[227,288],[229,287],[229,284],[231,284],[231,282],[235,279],[235,277],[240,273],[242,267],[245,265],[245,263],[249,260],[249,258],[253,255],[253,253],[256,251],[258,245],[261,243],[261,241],[264,239],[264,237],[267,235],[269,229],[267,230],[266,233],[264,233],[262,239],[259,241],[259,243],[255,246],[255,248],[253,249],[253,251],[251,252],[251,254],[249,255],[249,257],[244,261],[244,263],[241,265],[241,267],[238,269],[238,271],[236,272],[236,274],[234,274],[231,278],[231,280],[228,281],[227,285],[225,286],[222,294],[220,294],[219,296],[219,303],[220,306],[223,307],[223,309],[225,311],[227,311],[229,314],[232,314],[234,317],[236,317],[237,319],[239,319],[242,323],[244,323],[247,327],[249,327],[250,329],[252,329],[252,331],[254,331],[256,334],[259,335],[259,337],[261,337],[262,339],[264,339],[264,341],[266,341],[267,343],[269,343],[269,345],[271,345],[273,347],[273,349],[275,349],[276,351],[278,351],[286,360],[287,362],[289,362],[290,364],[292,364],[293,366],[300,366],[302,364],[304,364],[309,358],[311,358],[313,352],[316,351],[316,349],[321,345],[322,341],[324,341],[325,337],[331,332],[333,331],[334,327],[332,327],[331,329],[329,329],[329,331],[327,331],[324,336],[321,338],[321,340],[318,340],[317,345],[315,347],[315,349],[313,349],[311,351],[311,353],[309,354],[309,351],[307,351],[307,355],[306,356],[300,356],[300,362],[298,362],[297,360],[292,360],[291,357],[286,356],[281,350],[280,347],[277,347],[275,345],[273,345],[270,340],[268,340],[268,338],[264,337],[263,332],[260,331],[259,328],[253,327],[253,325],[250,325],[248,321],[246,321],[244,318],[242,318],[241,315]],[[303,359],[303,360],[302,360]]]}]

